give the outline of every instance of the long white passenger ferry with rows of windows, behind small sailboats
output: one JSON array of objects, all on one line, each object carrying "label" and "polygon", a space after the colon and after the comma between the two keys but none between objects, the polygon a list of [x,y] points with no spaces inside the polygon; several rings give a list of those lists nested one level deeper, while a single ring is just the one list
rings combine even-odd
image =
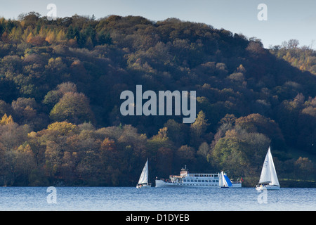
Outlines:
[{"label": "long white passenger ferry with rows of windows, behind small sailboats", "polygon": [[[226,175],[226,174],[225,174]],[[187,168],[183,168],[180,171],[180,176],[170,175],[169,179],[157,179],[156,178],[156,188],[159,187],[219,187],[219,177],[220,174],[190,174]],[[241,188],[242,182],[237,180],[236,182],[231,182],[232,188]]]}]

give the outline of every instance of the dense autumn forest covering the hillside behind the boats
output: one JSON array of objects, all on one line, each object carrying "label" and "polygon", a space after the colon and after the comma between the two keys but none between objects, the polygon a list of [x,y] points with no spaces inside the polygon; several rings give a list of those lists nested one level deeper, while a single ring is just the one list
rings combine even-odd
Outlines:
[{"label": "dense autumn forest covering the hillside behind the boats", "polygon": [[[197,91],[195,122],[122,116],[138,84]],[[316,53],[297,40],[264,49],[176,18],[31,12],[0,19],[0,87],[2,186],[133,186],[146,158],[151,180],[187,165],[252,186],[268,146],[281,185],[315,185]]]}]

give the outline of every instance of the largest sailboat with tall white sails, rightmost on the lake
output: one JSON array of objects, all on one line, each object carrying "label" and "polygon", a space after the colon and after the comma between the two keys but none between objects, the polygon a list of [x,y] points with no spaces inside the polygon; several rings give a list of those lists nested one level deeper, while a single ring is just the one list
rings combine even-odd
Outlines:
[{"label": "largest sailboat with tall white sails, rightmost on the lake", "polygon": [[277,172],[275,164],[273,163],[270,147],[261,170],[259,184],[256,186],[257,191],[262,191],[264,188],[267,190],[279,190],[279,180],[277,179]]}]

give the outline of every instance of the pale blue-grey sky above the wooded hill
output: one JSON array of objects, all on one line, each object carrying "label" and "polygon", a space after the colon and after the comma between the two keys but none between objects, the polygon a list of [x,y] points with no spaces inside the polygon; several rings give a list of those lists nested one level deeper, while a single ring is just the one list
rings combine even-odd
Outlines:
[{"label": "pale blue-grey sky above the wooded hill", "polygon": [[[30,11],[47,15],[46,6],[51,3],[56,5],[58,17],[140,15],[154,21],[179,18],[256,37],[265,48],[298,39],[300,46],[316,49],[315,0],[0,0],[0,16],[17,19],[20,13]],[[259,4],[267,6],[268,20],[258,20]]]}]

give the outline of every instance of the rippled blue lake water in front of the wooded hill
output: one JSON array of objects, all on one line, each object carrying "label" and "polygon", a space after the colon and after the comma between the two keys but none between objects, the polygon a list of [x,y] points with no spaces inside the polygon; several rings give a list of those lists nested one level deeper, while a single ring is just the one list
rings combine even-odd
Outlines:
[{"label": "rippled blue lake water in front of the wooded hill", "polygon": [[[316,188],[0,187],[0,210],[222,211],[316,210]],[[49,199],[48,199],[49,198]],[[48,203],[55,199],[56,203]]]}]

